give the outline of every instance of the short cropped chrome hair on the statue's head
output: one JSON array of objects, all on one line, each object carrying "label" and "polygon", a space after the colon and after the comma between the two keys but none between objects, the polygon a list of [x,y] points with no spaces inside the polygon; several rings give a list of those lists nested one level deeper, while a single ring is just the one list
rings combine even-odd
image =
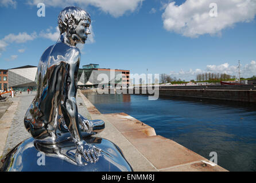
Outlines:
[{"label": "short cropped chrome hair on the statue's head", "polygon": [[75,6],[65,7],[65,9],[60,11],[60,14],[58,17],[60,34],[67,31],[68,20],[71,18],[73,19],[73,21],[75,21],[76,25],[78,25],[78,23],[82,20],[88,20],[91,22],[91,15],[87,13],[87,11],[80,9],[80,7],[75,7]]}]

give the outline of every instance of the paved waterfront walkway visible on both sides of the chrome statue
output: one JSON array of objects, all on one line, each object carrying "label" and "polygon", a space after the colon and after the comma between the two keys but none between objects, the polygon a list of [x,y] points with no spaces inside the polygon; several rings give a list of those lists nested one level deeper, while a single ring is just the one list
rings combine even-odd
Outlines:
[{"label": "paved waterfront walkway visible on both sides of the chrome statue", "polygon": [[[31,137],[23,120],[35,95],[23,92],[9,98],[12,103],[0,119],[0,156]],[[106,128],[97,136],[117,144],[134,171],[226,171],[184,146],[157,136],[152,127],[125,113],[101,114],[80,90],[76,100],[80,114],[105,122]]]}]

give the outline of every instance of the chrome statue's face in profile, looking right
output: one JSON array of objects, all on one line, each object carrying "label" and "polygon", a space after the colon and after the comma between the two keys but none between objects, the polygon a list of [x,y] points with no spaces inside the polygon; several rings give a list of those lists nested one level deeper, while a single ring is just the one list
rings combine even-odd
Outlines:
[{"label": "chrome statue's face in profile, looking right", "polygon": [[75,34],[80,38],[83,44],[86,42],[87,35],[91,34],[89,27],[90,27],[90,21],[83,20],[83,21],[80,21],[75,28]]}]

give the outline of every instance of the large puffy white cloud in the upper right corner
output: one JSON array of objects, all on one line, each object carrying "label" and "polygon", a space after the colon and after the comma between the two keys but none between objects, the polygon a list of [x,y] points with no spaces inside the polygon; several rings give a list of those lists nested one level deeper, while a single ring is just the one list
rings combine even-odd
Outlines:
[{"label": "large puffy white cloud in the upper right corner", "polygon": [[[218,17],[211,17],[210,4],[218,5]],[[255,0],[187,0],[182,5],[170,2],[162,14],[164,28],[187,37],[220,35],[238,22],[250,22],[256,15]]]}]

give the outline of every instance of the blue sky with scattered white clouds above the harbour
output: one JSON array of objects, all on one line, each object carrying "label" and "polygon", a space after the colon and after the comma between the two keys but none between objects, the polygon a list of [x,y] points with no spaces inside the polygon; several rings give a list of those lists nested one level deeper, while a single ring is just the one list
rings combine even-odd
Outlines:
[{"label": "blue sky with scattered white clouds above the harbour", "polygon": [[[45,17],[37,16],[38,2],[45,3]],[[91,14],[93,32],[80,67],[99,63],[187,80],[205,71],[235,75],[241,60],[242,76],[256,75],[255,0],[216,0],[218,17],[207,17],[208,0],[73,2],[0,0],[0,69],[37,66],[43,51],[55,43],[60,11],[76,5]]]}]

